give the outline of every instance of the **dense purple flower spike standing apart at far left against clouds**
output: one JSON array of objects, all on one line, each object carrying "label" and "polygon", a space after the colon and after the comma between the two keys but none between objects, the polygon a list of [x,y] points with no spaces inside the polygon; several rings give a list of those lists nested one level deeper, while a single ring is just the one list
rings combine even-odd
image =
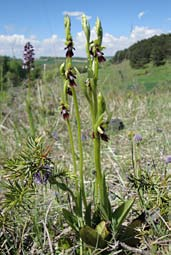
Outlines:
[{"label": "dense purple flower spike standing apart at far left against clouds", "polygon": [[23,69],[30,71],[34,68],[34,48],[30,42],[27,42],[24,46],[23,54]]}]

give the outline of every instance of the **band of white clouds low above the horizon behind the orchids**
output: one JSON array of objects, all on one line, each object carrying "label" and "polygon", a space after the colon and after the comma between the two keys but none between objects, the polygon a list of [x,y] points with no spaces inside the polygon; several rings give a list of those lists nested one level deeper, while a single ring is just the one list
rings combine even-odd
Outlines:
[{"label": "band of white clouds low above the horizon behind the orchids", "polygon": [[[106,56],[113,56],[116,51],[125,49],[133,43],[159,35],[160,29],[135,26],[128,36],[114,36],[104,33],[103,46],[106,47]],[[95,28],[91,31],[91,40],[96,38]],[[75,56],[85,56],[85,35],[83,31],[78,32],[73,38]],[[39,56],[65,56],[65,39],[54,34],[43,40],[36,39],[35,36],[25,37],[24,35],[0,35],[0,55],[22,57],[23,48],[26,42],[30,41],[35,48],[36,57]]]}]

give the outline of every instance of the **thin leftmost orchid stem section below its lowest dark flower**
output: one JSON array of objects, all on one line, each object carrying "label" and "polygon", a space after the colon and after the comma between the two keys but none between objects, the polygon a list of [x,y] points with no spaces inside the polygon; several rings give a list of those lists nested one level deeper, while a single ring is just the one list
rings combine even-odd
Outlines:
[{"label": "thin leftmost orchid stem section below its lowest dark flower", "polygon": [[67,119],[67,127],[68,127],[68,134],[69,134],[69,140],[70,140],[70,146],[71,146],[71,154],[72,154],[72,160],[73,160],[73,167],[74,167],[74,175],[76,177],[76,190],[78,190],[78,179],[77,179],[77,164],[76,164],[76,155],[75,155],[75,148],[74,148],[74,140],[72,135],[72,129],[70,121]]}]

